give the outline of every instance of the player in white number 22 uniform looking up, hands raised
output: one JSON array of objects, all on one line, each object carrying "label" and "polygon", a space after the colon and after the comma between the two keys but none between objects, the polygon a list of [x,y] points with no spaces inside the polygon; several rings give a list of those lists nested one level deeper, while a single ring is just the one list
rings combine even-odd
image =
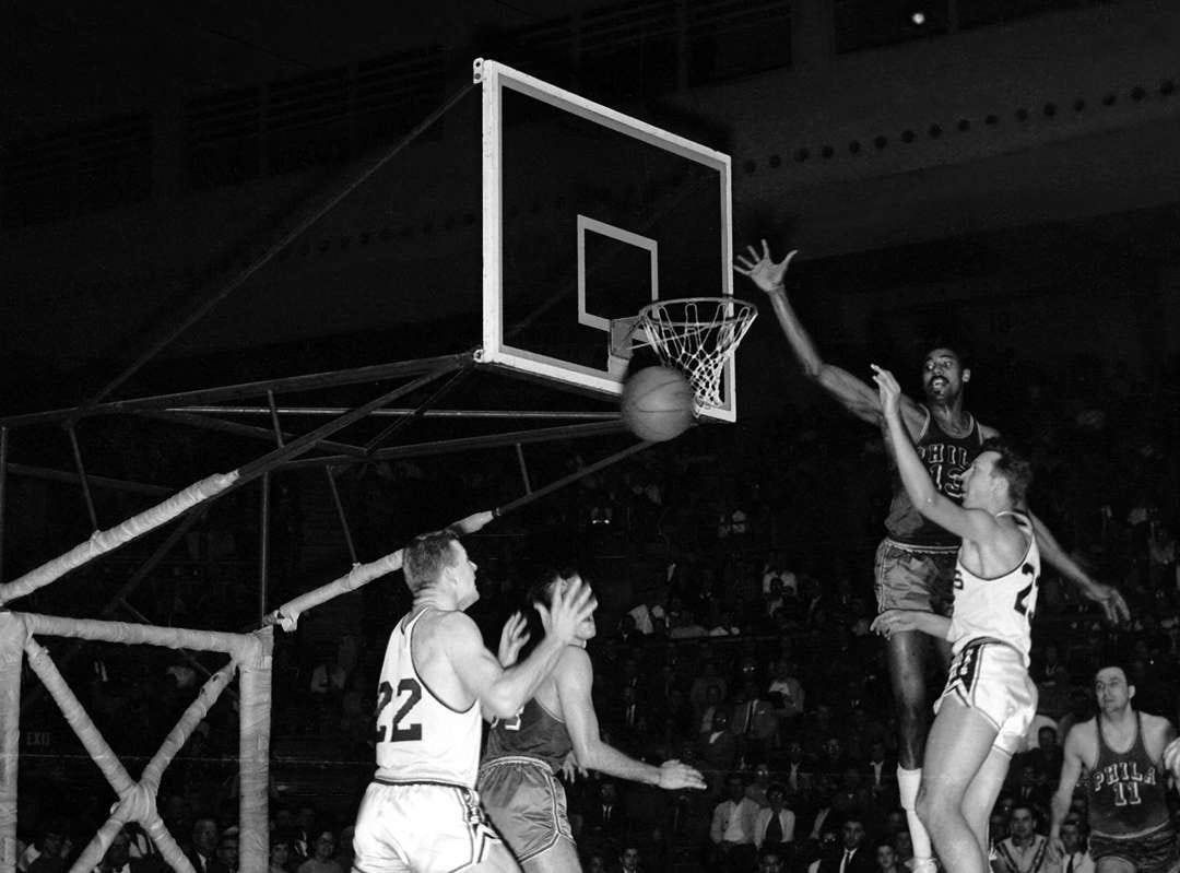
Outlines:
[{"label": "player in white number 22 uniform looking up, hands raised", "polygon": [[405,549],[413,605],[389,635],[376,708],[378,770],[356,816],[359,873],[519,871],[476,794],[480,709],[510,717],[577,639],[595,606],[581,583],[539,606],[545,636],[503,669],[464,610],[476,564],[451,530]]}]

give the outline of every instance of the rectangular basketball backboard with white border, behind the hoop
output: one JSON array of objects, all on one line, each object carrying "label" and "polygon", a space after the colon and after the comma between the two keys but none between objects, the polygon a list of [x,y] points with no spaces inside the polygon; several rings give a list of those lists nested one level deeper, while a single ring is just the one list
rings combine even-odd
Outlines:
[{"label": "rectangular basketball backboard with white border, behind the hoop", "polygon": [[[729,156],[490,60],[483,85],[486,363],[617,395],[610,324],[733,294]],[[734,365],[722,403],[736,418]]]}]

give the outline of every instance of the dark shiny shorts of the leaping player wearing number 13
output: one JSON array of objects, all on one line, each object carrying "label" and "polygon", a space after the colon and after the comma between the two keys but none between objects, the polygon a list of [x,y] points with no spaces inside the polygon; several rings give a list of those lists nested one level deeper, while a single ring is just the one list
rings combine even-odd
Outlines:
[{"label": "dark shiny shorts of the leaping player wearing number 13", "polygon": [[958,546],[919,549],[883,539],[877,547],[877,611],[913,609],[949,616],[955,604]]}]

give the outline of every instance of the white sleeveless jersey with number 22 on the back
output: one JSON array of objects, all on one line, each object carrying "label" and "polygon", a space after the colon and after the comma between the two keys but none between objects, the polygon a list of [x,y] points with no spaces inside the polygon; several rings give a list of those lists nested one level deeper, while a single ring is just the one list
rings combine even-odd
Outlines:
[{"label": "white sleeveless jersey with number 22 on the back", "polygon": [[476,787],[483,720],[479,701],[452,709],[414,669],[411,642],[422,612],[389,635],[376,700],[376,781]]}]

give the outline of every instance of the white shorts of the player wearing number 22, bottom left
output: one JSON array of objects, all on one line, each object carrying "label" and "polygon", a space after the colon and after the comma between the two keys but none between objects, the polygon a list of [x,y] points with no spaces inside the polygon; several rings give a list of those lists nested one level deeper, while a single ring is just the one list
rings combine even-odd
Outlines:
[{"label": "white shorts of the player wearing number 22, bottom left", "polygon": [[439,782],[371,782],[356,814],[353,869],[451,873],[487,858],[500,839],[479,795]]}]

